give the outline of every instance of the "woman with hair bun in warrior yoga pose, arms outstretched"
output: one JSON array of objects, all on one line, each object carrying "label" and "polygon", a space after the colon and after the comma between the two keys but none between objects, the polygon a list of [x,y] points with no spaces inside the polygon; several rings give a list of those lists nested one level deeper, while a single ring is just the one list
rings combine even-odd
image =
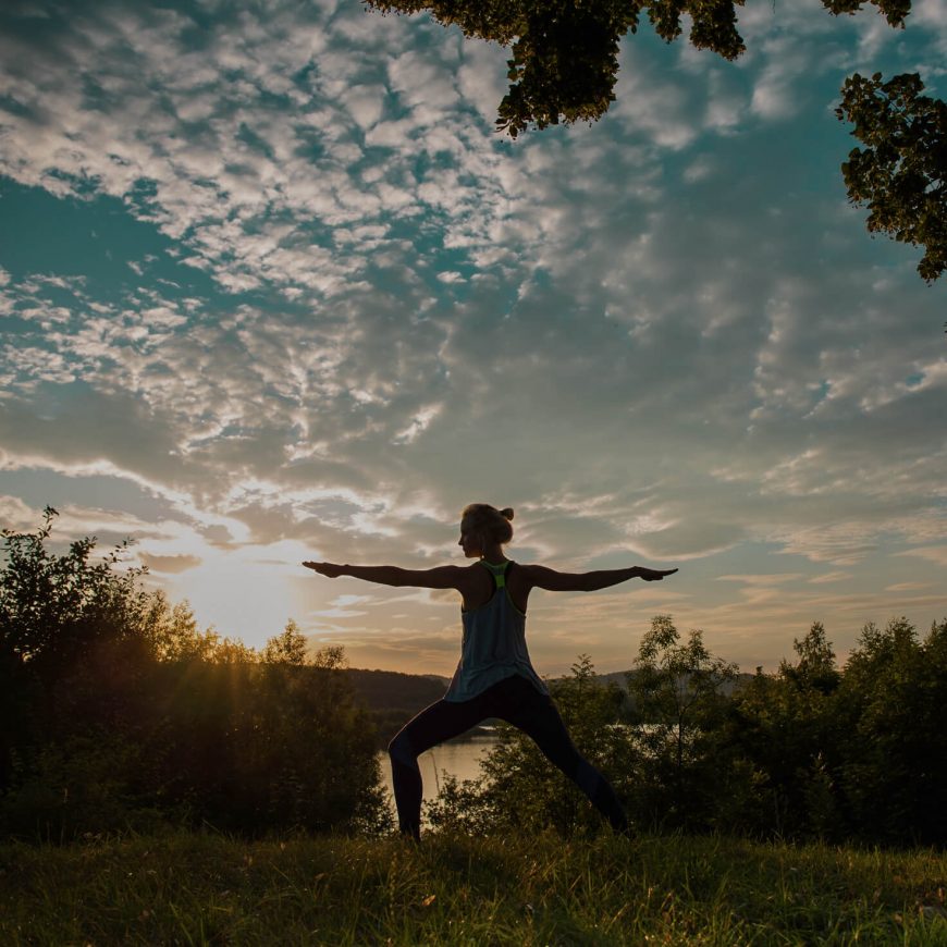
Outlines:
[{"label": "woman with hair bun in warrior yoga pose, arms outstretched", "polygon": [[496,509],[487,503],[472,503],[464,509],[458,545],[467,558],[477,559],[470,566],[402,569],[303,563],[331,579],[352,576],[383,586],[456,589],[462,595],[464,637],[451,686],[442,700],[422,710],[389,745],[398,825],[415,838],[420,837],[421,827],[418,757],[487,717],[500,717],[526,733],[579,786],[614,829],[625,832],[628,827],[612,787],[579,754],[549,689],[533,671],[526,650],[526,605],[534,588],[592,592],[634,578],[653,582],[677,569],[631,566],[570,574],[519,565],[503,553],[503,546],[513,539],[512,519],[512,509]]}]

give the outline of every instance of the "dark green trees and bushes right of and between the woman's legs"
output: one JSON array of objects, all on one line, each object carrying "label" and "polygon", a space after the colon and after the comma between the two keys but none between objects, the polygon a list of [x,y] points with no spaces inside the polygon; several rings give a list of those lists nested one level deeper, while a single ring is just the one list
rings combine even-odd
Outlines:
[{"label": "dark green trees and bushes right of and between the woman's legs", "polygon": [[[641,827],[947,843],[947,620],[923,639],[905,618],[869,624],[844,667],[820,623],[795,652],[777,673],[746,679],[700,631],[682,640],[657,616],[628,675],[630,701],[598,679],[587,655],[551,690],[577,746]],[[502,729],[482,768],[479,780],[442,784],[428,808],[433,825],[598,826],[517,730]]]}]

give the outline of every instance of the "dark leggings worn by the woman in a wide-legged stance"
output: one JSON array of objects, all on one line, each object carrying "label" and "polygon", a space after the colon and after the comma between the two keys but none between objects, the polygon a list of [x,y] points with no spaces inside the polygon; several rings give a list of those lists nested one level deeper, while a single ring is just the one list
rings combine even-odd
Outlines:
[{"label": "dark leggings worn by the woman in a wide-legged stance", "polygon": [[605,777],[580,755],[569,739],[552,698],[515,674],[471,700],[432,703],[405,724],[389,743],[398,827],[405,835],[420,837],[422,787],[418,757],[487,717],[499,717],[522,730],[589,797],[614,829],[627,828],[622,803]]}]

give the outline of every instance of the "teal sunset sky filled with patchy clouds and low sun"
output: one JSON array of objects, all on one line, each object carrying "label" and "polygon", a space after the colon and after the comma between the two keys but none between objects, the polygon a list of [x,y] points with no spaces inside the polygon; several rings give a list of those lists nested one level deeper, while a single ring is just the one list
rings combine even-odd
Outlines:
[{"label": "teal sunset sky filled with patchy clouds and low sun", "polygon": [[824,623],[947,615],[947,282],[865,231],[853,71],[947,97],[947,0],[748,0],[728,63],[644,23],[593,125],[494,131],[506,51],[357,0],[0,11],[0,522],[124,538],[201,627],[291,617],[448,675],[456,593],[306,558],[508,555],[664,582],[537,591],[542,674],[652,616],[773,669]]}]

